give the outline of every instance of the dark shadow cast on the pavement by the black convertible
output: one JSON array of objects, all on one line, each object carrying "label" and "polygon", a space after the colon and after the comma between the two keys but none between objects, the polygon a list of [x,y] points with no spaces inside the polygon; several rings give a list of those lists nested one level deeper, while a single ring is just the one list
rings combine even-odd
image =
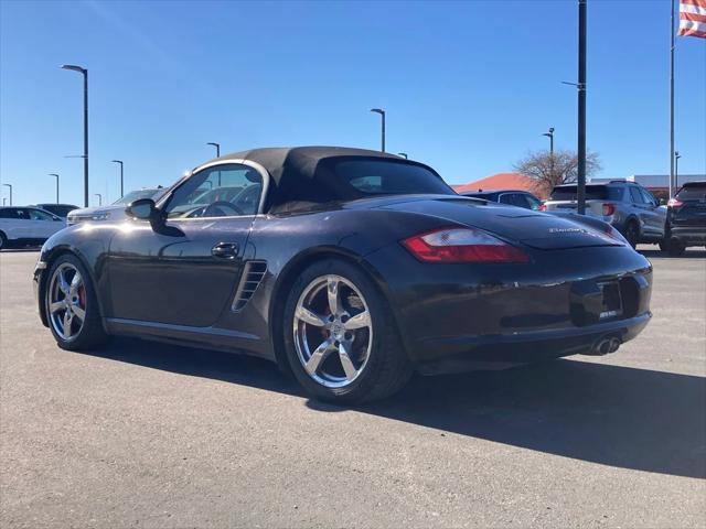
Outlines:
[{"label": "dark shadow cast on the pavement by the black convertible", "polygon": [[[92,354],[307,398],[258,358],[133,339]],[[705,403],[704,377],[559,359],[415,376],[398,395],[357,411],[591,463],[706,478]],[[307,406],[344,410],[314,400]]]}]

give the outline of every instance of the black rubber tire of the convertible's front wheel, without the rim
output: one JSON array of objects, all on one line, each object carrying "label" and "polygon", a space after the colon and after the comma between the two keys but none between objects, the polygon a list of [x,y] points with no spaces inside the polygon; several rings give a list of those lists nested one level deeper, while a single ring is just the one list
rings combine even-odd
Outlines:
[{"label": "black rubber tire of the convertible's front wheel, without the rim", "polygon": [[[55,325],[52,322],[52,314],[50,312],[50,294],[51,294],[51,285],[52,278],[54,277],[56,270],[62,267],[62,264],[68,263],[74,267],[81,273],[84,284],[85,292],[85,319],[83,324],[81,325],[79,331],[72,336],[71,338],[64,338],[55,328]],[[93,281],[90,280],[90,276],[86,271],[86,268],[83,266],[81,260],[71,253],[64,253],[56,258],[52,262],[52,266],[49,269],[47,279],[44,282],[44,288],[42,291],[42,296],[44,300],[44,311],[46,314],[46,321],[49,322],[49,328],[54,335],[54,339],[56,339],[56,344],[66,350],[85,350],[85,349],[94,349],[104,345],[108,341],[108,335],[103,328],[103,322],[100,319],[100,312],[98,310],[98,301],[96,299],[96,291],[93,285]]]}]

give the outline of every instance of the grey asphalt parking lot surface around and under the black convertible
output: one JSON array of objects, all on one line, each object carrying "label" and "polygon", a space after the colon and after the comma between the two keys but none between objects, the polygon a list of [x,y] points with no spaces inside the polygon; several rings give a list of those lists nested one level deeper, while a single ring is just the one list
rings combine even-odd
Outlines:
[{"label": "grey asphalt parking lot surface around and under the black convertible", "polygon": [[416,377],[346,410],[266,361],[58,349],[0,255],[2,527],[704,527],[706,251],[607,357]]}]

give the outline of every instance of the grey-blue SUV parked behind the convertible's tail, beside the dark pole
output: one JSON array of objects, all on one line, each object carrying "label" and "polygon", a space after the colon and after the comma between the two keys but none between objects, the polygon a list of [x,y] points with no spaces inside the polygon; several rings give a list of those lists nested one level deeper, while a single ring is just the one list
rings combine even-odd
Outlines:
[{"label": "grey-blue SUV parked behind the convertible's tail, beside the dark pole", "polygon": [[[571,212],[577,207],[577,185],[557,185],[542,205],[546,212]],[[617,180],[586,186],[586,215],[611,224],[634,248],[638,242],[664,244],[666,207],[633,182]]]}]

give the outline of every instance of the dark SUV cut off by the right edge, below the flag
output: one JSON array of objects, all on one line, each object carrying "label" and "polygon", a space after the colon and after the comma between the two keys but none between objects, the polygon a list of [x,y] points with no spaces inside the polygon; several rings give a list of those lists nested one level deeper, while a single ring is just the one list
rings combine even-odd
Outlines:
[{"label": "dark SUV cut off by the right edge, below the flag", "polygon": [[706,181],[684,184],[668,202],[665,238],[673,256],[687,246],[706,246]]}]

